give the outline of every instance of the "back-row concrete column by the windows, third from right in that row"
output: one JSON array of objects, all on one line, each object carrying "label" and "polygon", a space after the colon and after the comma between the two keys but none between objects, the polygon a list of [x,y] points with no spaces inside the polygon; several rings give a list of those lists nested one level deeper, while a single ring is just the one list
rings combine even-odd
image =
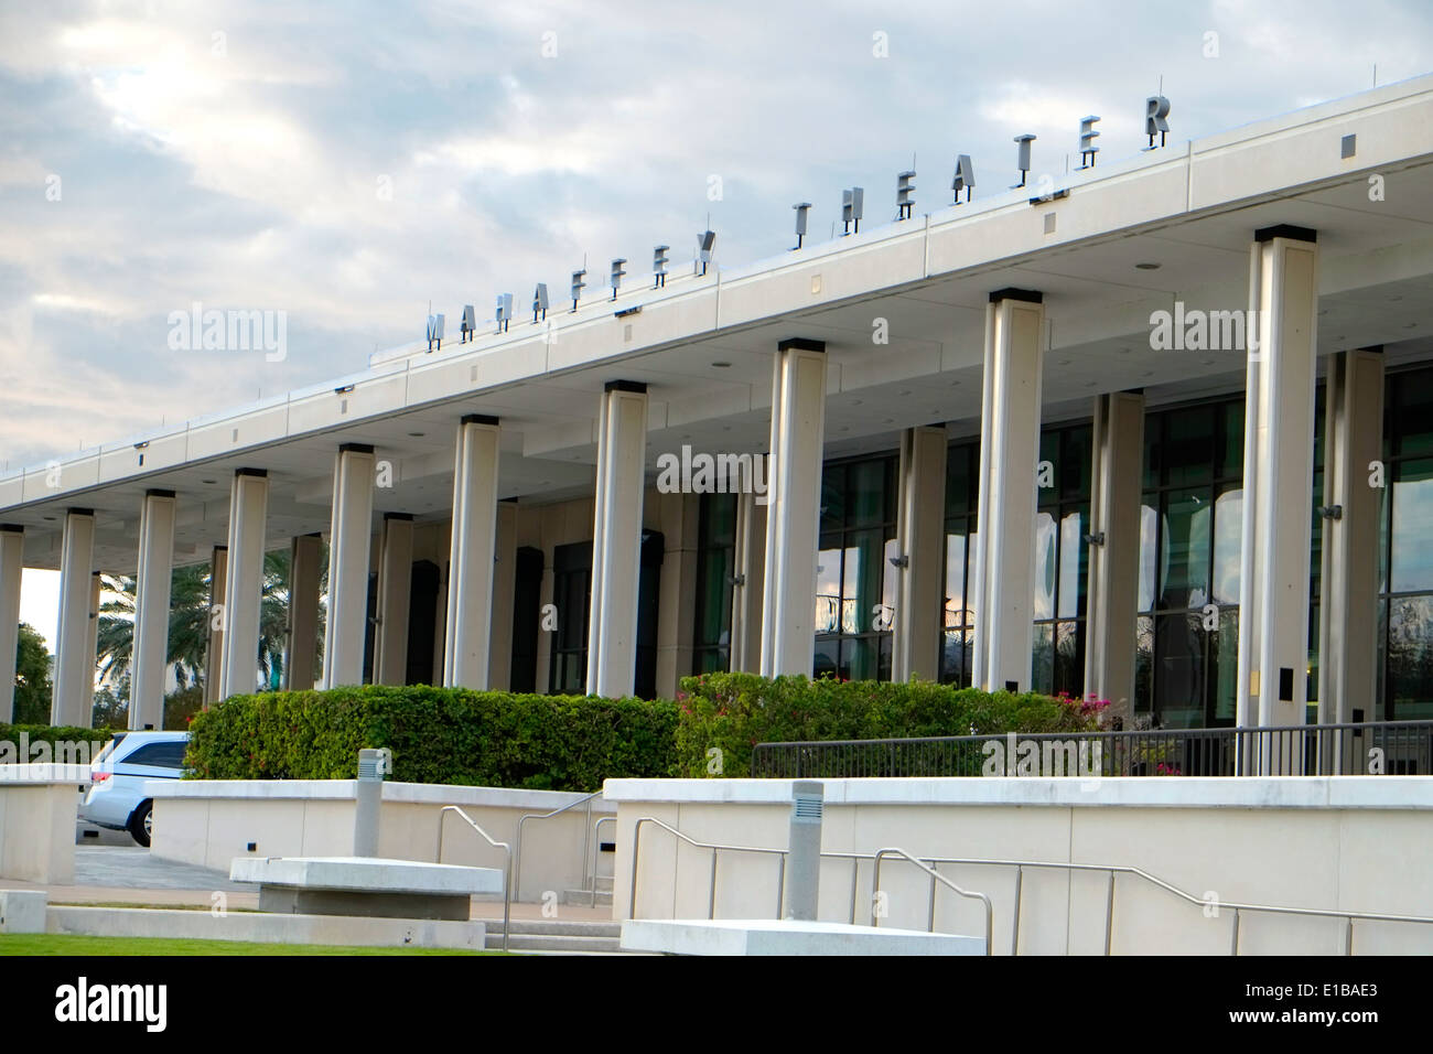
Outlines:
[{"label": "back-row concrete column by the windows, third from right in that row", "polygon": [[900,440],[896,548],[904,556],[896,588],[891,680],[940,678],[946,555],[946,429],[906,429]]}]

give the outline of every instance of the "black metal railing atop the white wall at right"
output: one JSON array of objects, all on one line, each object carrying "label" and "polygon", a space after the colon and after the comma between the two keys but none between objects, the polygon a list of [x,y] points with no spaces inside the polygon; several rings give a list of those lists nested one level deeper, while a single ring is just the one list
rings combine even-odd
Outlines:
[{"label": "black metal railing atop the white wall at right", "polygon": [[1363,776],[1433,773],[1433,721],[758,743],[751,774]]}]

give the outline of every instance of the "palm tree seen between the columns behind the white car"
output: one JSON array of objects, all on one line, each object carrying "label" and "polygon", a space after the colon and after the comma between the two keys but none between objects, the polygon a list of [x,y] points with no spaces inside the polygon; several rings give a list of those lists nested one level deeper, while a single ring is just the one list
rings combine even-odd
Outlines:
[{"label": "palm tree seen between the columns behind the white car", "polygon": [[[278,549],[264,554],[264,587],[259,601],[258,671],[265,685],[275,685],[288,642],[289,556]],[[118,687],[128,675],[135,652],[135,597],[138,584],[126,575],[103,575],[107,599],[100,604],[97,665],[100,684]],[[328,549],[320,558],[320,589],[327,589]],[[179,690],[203,684],[209,650],[212,575],[206,564],[175,568],[169,587],[169,654]],[[324,647],[324,604],[318,612],[318,652]]]}]

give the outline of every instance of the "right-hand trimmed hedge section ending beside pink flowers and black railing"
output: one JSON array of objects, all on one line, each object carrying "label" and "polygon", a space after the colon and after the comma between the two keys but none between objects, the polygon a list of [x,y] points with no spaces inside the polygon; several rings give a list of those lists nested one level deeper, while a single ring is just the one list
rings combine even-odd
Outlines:
[{"label": "right-hand trimmed hedge section ending beside pink flowers and black railing", "polygon": [[[873,740],[992,733],[1093,731],[1101,706],[1068,697],[956,688],[933,681],[838,681],[715,673],[684,677],[676,693],[676,771],[745,776],[758,743]],[[979,770],[979,769],[977,769]]]}]

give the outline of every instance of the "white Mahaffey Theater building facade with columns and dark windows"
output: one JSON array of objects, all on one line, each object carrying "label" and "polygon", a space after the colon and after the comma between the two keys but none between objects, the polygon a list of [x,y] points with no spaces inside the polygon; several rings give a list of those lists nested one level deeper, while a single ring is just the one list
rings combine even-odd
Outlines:
[{"label": "white Mahaffey Theater building facade with columns and dark windows", "polygon": [[[284,549],[288,687],[731,668],[1166,727],[1433,717],[1433,77],[1032,194],[0,478],[0,657],[20,569],[59,569],[52,718],[89,724],[95,575],[135,575],[158,727],[172,568],[214,565],[222,698],[257,685]],[[674,489],[684,449],[761,493]]]}]

